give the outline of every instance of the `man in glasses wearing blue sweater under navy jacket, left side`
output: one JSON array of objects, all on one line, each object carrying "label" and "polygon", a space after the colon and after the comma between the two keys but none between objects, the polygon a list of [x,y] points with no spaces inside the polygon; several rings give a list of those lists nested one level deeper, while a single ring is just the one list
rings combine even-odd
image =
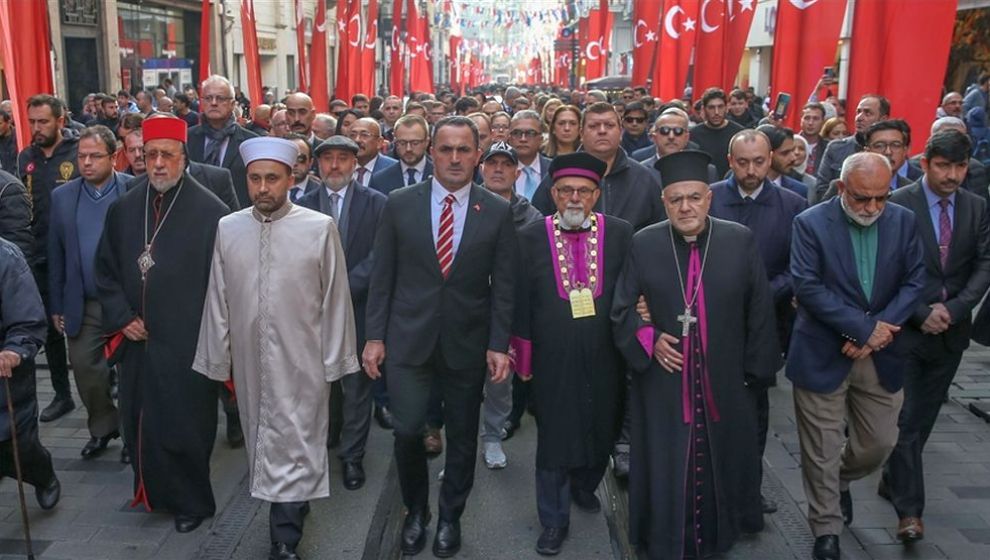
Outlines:
[{"label": "man in glasses wearing blue sweater under navy jacket, left side", "polygon": [[[83,459],[96,457],[120,437],[120,414],[110,396],[103,356],[102,310],[93,264],[107,210],[126,191],[130,175],[113,170],[117,137],[102,125],[79,136],[80,176],[52,192],[48,232],[48,293],[52,324],[69,341],[76,390],[86,405],[89,441]],[[127,453],[121,452],[126,460]]]}]

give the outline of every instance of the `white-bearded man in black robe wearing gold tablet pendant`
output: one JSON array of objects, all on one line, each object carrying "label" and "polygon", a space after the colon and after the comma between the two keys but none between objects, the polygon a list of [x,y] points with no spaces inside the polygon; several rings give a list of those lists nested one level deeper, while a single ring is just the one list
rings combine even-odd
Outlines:
[{"label": "white-bearded man in black robe wearing gold tablet pendant", "polygon": [[550,165],[558,211],[519,232],[513,350],[536,404],[536,550],[557,554],[570,504],[599,511],[595,489],[618,428],[625,365],[612,294],[632,241],[628,222],[592,212],[605,162],[578,152]]}]

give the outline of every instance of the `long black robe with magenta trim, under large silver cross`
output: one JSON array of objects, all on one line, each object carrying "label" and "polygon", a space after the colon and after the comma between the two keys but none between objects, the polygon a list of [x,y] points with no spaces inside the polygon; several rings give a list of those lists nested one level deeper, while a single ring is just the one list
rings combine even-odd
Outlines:
[{"label": "long black robe with magenta trim, under large silver cross", "polygon": [[[712,235],[702,274],[704,309],[697,302],[692,308],[695,316],[705,313],[690,334],[695,347],[707,341],[694,355],[700,367],[684,376],[653,358],[661,331],[682,335],[678,316],[684,314],[690,251],[676,233],[672,242],[671,233],[665,221],[633,237],[612,309],[616,342],[634,372],[630,538],[651,559],[724,552],[740,531],[762,529],[756,410],[744,385],[769,383],[780,366],[773,300],[753,235],[712,218],[697,239],[703,259]],[[640,294],[652,324],[636,312]],[[696,502],[704,506],[696,508]]]}]

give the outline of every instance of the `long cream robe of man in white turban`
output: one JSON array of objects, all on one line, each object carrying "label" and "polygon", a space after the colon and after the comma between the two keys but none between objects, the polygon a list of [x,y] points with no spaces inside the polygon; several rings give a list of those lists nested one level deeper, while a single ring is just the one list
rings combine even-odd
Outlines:
[{"label": "long cream robe of man in white turban", "polygon": [[359,371],[330,217],[286,202],[220,220],[193,369],[217,381],[233,370],[253,497],[329,495],[329,382]]}]

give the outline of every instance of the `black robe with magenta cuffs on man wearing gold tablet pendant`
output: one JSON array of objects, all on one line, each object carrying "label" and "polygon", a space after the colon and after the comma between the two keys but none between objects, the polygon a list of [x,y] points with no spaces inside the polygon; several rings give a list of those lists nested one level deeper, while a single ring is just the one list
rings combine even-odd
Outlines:
[{"label": "black robe with magenta cuffs on man wearing gold tablet pendant", "polygon": [[617,435],[625,366],[609,313],[632,226],[602,214],[598,219],[604,220],[604,228],[601,262],[595,267],[595,315],[580,319],[573,318],[558,280],[552,222],[547,224],[552,218],[519,231],[513,349],[517,373],[531,375],[538,425],[536,465],[541,469],[602,465]]}]

